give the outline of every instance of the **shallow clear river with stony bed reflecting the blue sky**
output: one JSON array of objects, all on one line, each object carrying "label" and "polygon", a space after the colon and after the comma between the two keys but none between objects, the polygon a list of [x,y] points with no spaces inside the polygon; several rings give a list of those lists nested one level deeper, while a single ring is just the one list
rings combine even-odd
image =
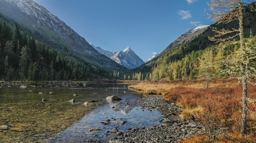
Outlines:
[{"label": "shallow clear river with stony bed reflecting the blue sky", "polygon": [[[113,129],[159,125],[157,110],[134,106],[141,93],[125,84],[76,87],[20,88],[0,86],[0,142],[86,143],[119,137]],[[116,95],[121,101],[110,102]],[[42,101],[42,99],[46,101]],[[73,102],[69,100],[74,99]],[[97,102],[91,102],[97,100]],[[83,103],[89,101],[89,106]]]}]

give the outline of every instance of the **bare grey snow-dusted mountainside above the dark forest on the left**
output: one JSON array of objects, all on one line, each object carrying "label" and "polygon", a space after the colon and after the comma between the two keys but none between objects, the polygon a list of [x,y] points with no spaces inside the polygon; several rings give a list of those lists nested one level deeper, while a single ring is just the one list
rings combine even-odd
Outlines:
[{"label": "bare grey snow-dusted mountainside above the dark forest on the left", "polygon": [[57,51],[70,51],[79,57],[102,66],[122,69],[108,57],[99,54],[70,26],[32,0],[0,0],[0,13],[28,27],[31,35]]}]

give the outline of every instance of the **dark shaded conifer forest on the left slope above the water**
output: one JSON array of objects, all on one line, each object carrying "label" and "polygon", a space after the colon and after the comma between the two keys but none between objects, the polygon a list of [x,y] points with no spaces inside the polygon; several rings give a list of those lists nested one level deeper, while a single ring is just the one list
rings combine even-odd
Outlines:
[{"label": "dark shaded conifer forest on the left slope above the water", "polygon": [[17,23],[0,17],[0,80],[85,81],[109,77],[108,72],[93,64],[67,49],[58,52],[53,50],[21,31]]}]

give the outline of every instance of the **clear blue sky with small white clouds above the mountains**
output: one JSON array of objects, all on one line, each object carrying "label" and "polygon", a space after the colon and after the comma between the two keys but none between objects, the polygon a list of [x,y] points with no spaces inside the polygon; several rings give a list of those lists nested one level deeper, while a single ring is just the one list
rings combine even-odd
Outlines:
[{"label": "clear blue sky with small white clouds above the mountains", "polygon": [[210,25],[210,0],[34,0],[94,46],[121,51],[130,46],[146,61],[182,34]]}]

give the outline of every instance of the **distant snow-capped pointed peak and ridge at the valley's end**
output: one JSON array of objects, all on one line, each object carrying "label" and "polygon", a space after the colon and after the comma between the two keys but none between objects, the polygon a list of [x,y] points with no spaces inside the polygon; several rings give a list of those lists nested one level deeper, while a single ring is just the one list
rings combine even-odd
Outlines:
[{"label": "distant snow-capped pointed peak and ridge at the valley's end", "polygon": [[129,46],[127,46],[123,51],[110,52],[107,50],[103,50],[99,46],[94,46],[91,43],[90,45],[95,48],[99,53],[106,55],[113,61],[128,69],[137,68],[138,66],[144,64],[143,60],[138,55],[136,55]]}]

